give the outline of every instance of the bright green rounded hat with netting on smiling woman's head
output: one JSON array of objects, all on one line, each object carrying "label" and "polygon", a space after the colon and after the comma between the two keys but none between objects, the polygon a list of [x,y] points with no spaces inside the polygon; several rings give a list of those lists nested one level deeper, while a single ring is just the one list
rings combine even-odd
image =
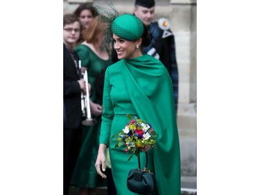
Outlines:
[{"label": "bright green rounded hat with netting on smiling woman's head", "polygon": [[124,14],[116,17],[112,22],[112,32],[124,40],[138,40],[144,33],[141,19],[135,15]]}]

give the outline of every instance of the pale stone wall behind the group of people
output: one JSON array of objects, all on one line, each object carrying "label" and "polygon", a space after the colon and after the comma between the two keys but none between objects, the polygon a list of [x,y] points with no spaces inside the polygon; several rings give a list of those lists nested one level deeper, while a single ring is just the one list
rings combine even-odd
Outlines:
[{"label": "pale stone wall behind the group of people", "polygon": [[[179,69],[179,107],[177,125],[180,134],[182,176],[196,176],[197,131],[197,63],[196,63],[196,0],[155,0],[155,19],[166,17],[171,21],[175,35]],[[64,1],[64,13],[73,12],[80,2],[101,3],[100,0]],[[134,0],[112,0],[121,12],[132,12]]]}]

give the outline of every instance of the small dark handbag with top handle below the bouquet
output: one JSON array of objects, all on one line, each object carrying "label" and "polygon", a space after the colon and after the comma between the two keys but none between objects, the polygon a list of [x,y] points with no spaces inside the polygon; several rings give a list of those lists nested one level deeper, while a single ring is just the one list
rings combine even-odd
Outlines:
[{"label": "small dark handbag with top handle below the bouquet", "polygon": [[[148,154],[146,152],[146,167],[148,164]],[[155,173],[141,169],[140,157],[138,156],[139,169],[131,169],[128,173],[127,186],[131,192],[137,194],[151,194],[157,190]]]}]

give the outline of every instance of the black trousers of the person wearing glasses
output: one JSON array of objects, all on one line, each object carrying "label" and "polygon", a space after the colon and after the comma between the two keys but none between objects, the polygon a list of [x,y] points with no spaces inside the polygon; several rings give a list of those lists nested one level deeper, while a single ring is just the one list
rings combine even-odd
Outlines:
[{"label": "black trousers of the person wearing glasses", "polygon": [[69,183],[76,165],[82,140],[82,126],[63,128],[63,194],[68,194]]}]

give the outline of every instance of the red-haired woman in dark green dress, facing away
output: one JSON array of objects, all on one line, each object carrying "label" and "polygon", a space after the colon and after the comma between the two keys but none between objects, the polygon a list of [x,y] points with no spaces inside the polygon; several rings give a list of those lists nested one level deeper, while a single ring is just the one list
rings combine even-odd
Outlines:
[{"label": "red-haired woman in dark green dress, facing away", "polygon": [[103,36],[103,27],[94,18],[89,28],[83,31],[85,42],[74,49],[81,60],[82,71],[84,72],[87,69],[88,83],[92,86],[89,104],[92,118],[97,121],[95,125],[85,126],[83,129],[83,144],[71,179],[71,185],[80,189],[80,195],[96,194],[96,187],[106,185],[106,181],[97,175],[94,166],[103,112],[102,96],[98,96],[99,89],[95,88],[94,83],[103,69],[112,64],[110,53],[101,42]]}]

